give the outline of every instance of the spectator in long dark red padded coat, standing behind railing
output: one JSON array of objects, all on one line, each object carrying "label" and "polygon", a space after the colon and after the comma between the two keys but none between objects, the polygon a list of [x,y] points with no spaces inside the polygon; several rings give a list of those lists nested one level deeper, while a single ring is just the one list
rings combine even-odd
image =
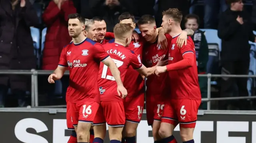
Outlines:
[{"label": "spectator in long dark red padded coat, standing behind railing", "polygon": [[[56,69],[63,47],[72,40],[68,34],[68,15],[73,13],[76,13],[76,8],[74,8],[72,0],[52,0],[44,11],[42,18],[47,26],[47,33],[42,59],[43,70]],[[64,76],[61,80],[62,97],[65,97],[68,76]],[[48,100],[51,102],[50,97],[52,97],[54,85],[48,84],[48,86],[50,86],[48,87]]]}]

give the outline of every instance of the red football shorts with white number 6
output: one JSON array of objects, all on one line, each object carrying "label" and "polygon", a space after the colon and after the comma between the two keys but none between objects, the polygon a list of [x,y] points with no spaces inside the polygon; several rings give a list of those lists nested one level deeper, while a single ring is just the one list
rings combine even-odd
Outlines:
[{"label": "red football shorts with white number 6", "polygon": [[184,128],[194,128],[200,104],[201,100],[172,99],[166,102],[161,121],[175,126],[180,123],[180,127]]}]

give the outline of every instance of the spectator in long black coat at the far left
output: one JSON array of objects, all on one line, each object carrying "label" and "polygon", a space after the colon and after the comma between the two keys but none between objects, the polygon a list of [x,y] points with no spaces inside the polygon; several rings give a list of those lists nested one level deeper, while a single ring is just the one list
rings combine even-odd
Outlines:
[{"label": "spectator in long black coat at the far left", "polygon": [[[30,26],[38,25],[38,17],[29,0],[0,1],[0,70],[30,70],[36,67]],[[18,98],[18,106],[26,105],[30,76],[0,75],[0,106],[10,87]]]}]

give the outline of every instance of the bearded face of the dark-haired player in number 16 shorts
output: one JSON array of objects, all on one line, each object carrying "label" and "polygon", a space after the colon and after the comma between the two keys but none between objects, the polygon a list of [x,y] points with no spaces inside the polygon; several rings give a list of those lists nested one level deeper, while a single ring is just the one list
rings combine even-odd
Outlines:
[{"label": "bearded face of the dark-haired player in number 16 shorts", "polygon": [[68,20],[68,33],[70,37],[76,38],[82,33],[84,25],[76,18]]}]

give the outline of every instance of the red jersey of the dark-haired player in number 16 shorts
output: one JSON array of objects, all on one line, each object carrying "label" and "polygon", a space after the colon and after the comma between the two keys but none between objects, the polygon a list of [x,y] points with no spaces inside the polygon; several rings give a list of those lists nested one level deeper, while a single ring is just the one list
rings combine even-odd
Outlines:
[{"label": "red jersey of the dark-haired player in number 16 shorts", "polygon": [[89,38],[78,44],[72,42],[62,49],[58,66],[69,69],[69,102],[100,102],[98,72],[100,61],[108,56],[100,43]]}]

